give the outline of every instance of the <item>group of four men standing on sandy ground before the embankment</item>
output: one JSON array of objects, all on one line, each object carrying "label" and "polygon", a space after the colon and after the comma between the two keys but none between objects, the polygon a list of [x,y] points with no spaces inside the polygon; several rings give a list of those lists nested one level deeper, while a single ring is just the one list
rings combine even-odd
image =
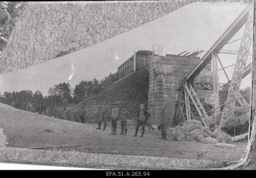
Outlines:
[{"label": "group of four men standing on sandy ground before the embankment", "polygon": [[[99,118],[99,127],[96,128],[97,130],[101,129],[101,123],[104,122],[104,128],[102,130],[106,130],[107,122],[109,120],[109,111],[110,108],[108,106],[108,103],[106,100],[104,100],[104,105],[102,106],[101,112],[100,112],[100,118]],[[141,126],[141,135],[140,137],[143,137],[145,133],[145,124],[147,123],[147,119],[150,117],[150,114],[147,110],[144,108],[144,104],[140,105],[140,110],[137,114],[137,124],[136,124],[136,131],[133,137],[137,137],[138,130]],[[116,108],[116,103],[113,103],[112,110],[111,110],[111,130],[112,135],[116,135],[117,130],[117,121],[120,119],[121,121],[121,133],[120,135],[127,135],[127,119],[131,119],[131,116],[126,109],[125,106],[122,106],[120,112],[118,112],[118,108]]]}]

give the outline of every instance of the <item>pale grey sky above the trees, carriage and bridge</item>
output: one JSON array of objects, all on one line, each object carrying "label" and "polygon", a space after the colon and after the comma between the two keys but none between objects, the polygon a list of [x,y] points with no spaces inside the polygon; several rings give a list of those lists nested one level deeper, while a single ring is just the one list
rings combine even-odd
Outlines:
[{"label": "pale grey sky above the trees, carriage and bridge", "polygon": [[[101,80],[109,73],[115,73],[118,66],[133,55],[134,50],[152,50],[153,44],[163,45],[163,56],[180,54],[184,50],[190,53],[195,50],[207,52],[246,6],[247,3],[224,2],[189,4],[90,47],[3,73],[0,75],[0,93],[29,89],[33,92],[40,90],[45,96],[50,87],[62,82],[69,83],[74,89],[82,80]],[[242,36],[243,28],[230,41]],[[230,43],[223,49],[239,50],[240,42]],[[199,57],[203,57],[205,52]],[[235,64],[236,57],[220,54],[224,67]],[[252,57],[249,59],[252,61]],[[220,64],[218,66],[220,68]],[[234,67],[227,69],[229,78],[232,78],[233,70]],[[219,72],[219,77],[219,82],[227,82],[223,71]],[[241,86],[250,85],[250,80],[248,75]]]}]

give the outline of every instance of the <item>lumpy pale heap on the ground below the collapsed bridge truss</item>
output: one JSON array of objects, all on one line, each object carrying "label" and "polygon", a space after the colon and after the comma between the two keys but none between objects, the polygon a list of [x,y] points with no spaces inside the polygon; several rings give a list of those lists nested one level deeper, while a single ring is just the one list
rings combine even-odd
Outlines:
[{"label": "lumpy pale heap on the ground below the collapsed bridge truss", "polygon": [[167,139],[177,141],[194,141],[204,144],[232,143],[232,137],[225,131],[210,131],[208,127],[203,126],[200,121],[191,120],[184,122],[182,126],[168,128]]}]

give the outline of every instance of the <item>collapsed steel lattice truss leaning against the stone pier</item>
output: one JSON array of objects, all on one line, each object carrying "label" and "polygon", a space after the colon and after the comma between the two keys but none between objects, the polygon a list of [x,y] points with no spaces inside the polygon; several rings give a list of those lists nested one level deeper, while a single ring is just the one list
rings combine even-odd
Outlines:
[{"label": "collapsed steel lattice truss leaning against the stone pier", "polygon": [[[232,37],[244,26],[244,34],[241,40],[241,45],[239,51],[230,51],[230,50],[222,50],[222,48],[227,45],[228,41],[232,39]],[[250,48],[252,47],[252,31],[253,31],[253,6],[252,4],[248,4],[246,8],[241,12],[241,14],[237,17],[236,20],[228,27],[228,29],[220,36],[220,38],[214,43],[214,45],[206,52],[204,57],[200,60],[198,64],[196,64],[195,68],[189,72],[189,74],[184,78],[182,85],[179,88],[177,95],[177,102],[175,107],[173,108],[172,114],[172,122],[175,118],[178,117],[179,110],[184,117],[183,111],[186,110],[186,119],[185,121],[189,121],[193,119],[191,116],[193,113],[191,112],[190,102],[192,101],[193,105],[196,108],[196,111],[200,115],[200,119],[203,124],[205,124],[205,118],[209,117],[208,113],[205,111],[204,105],[199,100],[196,95],[195,90],[197,89],[211,89],[214,93],[214,115],[221,114],[220,124],[218,129],[221,129],[221,124],[224,119],[227,119],[228,113],[235,107],[236,101],[240,103],[241,106],[246,105],[246,101],[243,96],[239,93],[239,88],[241,85],[241,80],[246,77],[252,71],[252,65],[249,64],[246,66],[246,61],[248,60],[248,56],[252,55],[250,53]],[[237,41],[237,40],[236,40]],[[229,42],[231,43],[231,42]],[[232,79],[230,80],[225,72],[225,68],[223,68],[220,58],[218,54],[236,54],[237,61],[234,69],[234,73],[232,75]],[[213,83],[196,83],[193,84],[196,76],[202,71],[207,64],[211,62],[212,64],[212,76]],[[223,87],[223,84],[219,84],[218,82],[218,62],[221,65],[221,70],[224,71],[228,83],[225,84],[227,87]],[[225,94],[223,99],[220,102],[219,90],[225,90]],[[183,107],[183,108],[182,108]],[[197,118],[199,118],[197,117]],[[195,119],[195,118],[194,118]]]}]

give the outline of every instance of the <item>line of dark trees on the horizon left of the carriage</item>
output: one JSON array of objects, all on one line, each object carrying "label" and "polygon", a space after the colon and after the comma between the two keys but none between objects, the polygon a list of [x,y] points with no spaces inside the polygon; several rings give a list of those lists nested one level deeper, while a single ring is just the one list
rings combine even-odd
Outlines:
[{"label": "line of dark trees on the horizon left of the carriage", "polygon": [[[111,74],[109,76],[111,76]],[[108,87],[108,85],[115,82],[115,80],[110,80],[111,77],[110,79],[109,77],[105,78],[108,80],[101,80],[100,82],[96,78],[90,81],[82,80],[74,89],[70,87],[70,84],[65,82],[55,84],[50,87],[45,96],[43,96],[40,90],[36,90],[35,93],[28,89],[19,92],[5,91],[3,94],[0,93],[0,102],[7,105],[12,105],[12,103],[15,102],[17,108],[22,108],[24,103],[58,107],[63,105],[65,99],[68,100],[68,103],[77,104],[90,96],[99,94]]]}]

